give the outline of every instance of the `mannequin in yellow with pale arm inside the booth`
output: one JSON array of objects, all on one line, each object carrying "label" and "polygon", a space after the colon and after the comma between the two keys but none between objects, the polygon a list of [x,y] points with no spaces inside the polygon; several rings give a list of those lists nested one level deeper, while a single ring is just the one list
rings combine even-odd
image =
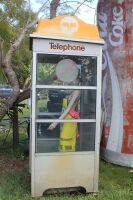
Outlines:
[{"label": "mannequin in yellow with pale arm inside the booth", "polygon": [[[79,74],[76,75],[76,80],[69,82],[73,84],[78,83],[79,80],[77,78]],[[79,112],[77,111],[78,102],[80,99],[80,91],[74,90],[69,98],[69,103],[67,105],[67,108],[65,111],[61,114],[59,119],[78,119],[79,118]],[[48,127],[48,130],[53,130],[57,126],[57,122],[51,123]],[[59,144],[59,151],[67,152],[67,151],[75,151],[76,147],[76,138],[77,138],[77,122],[65,122],[63,124],[61,133],[60,133],[60,144]]]}]

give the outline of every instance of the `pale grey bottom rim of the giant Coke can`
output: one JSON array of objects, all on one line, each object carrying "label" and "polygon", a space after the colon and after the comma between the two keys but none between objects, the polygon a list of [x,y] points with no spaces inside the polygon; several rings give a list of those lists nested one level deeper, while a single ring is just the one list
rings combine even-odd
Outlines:
[{"label": "pale grey bottom rim of the giant Coke can", "polygon": [[133,167],[133,154],[124,154],[101,148],[101,157],[116,165]]}]

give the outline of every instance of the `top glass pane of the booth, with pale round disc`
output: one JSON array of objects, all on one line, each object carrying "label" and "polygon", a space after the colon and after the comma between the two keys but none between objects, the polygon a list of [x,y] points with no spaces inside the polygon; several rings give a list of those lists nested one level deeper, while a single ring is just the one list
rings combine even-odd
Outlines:
[{"label": "top glass pane of the booth, with pale round disc", "polygon": [[96,86],[97,57],[37,54],[38,85]]}]

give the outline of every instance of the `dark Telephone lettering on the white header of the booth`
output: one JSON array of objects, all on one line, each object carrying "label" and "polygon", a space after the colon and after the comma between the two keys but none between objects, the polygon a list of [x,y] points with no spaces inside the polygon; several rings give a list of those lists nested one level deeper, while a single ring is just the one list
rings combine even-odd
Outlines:
[{"label": "dark Telephone lettering on the white header of the booth", "polygon": [[84,52],[85,46],[83,45],[75,45],[75,44],[62,44],[59,42],[49,42],[50,50],[56,51],[72,51],[72,52]]}]

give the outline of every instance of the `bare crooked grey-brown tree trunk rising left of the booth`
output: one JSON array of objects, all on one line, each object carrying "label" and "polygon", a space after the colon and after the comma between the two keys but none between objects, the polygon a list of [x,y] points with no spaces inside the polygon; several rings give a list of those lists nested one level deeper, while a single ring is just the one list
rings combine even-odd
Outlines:
[{"label": "bare crooked grey-brown tree trunk rising left of the booth", "polygon": [[13,42],[13,44],[11,44],[7,54],[5,55],[4,60],[2,60],[4,72],[5,72],[6,76],[8,77],[11,87],[13,88],[13,92],[5,100],[5,102],[3,102],[2,105],[0,106],[0,120],[3,118],[3,116],[6,114],[6,112],[13,106],[14,102],[18,99],[19,94],[20,94],[19,82],[18,82],[17,76],[11,66],[11,60],[12,60],[13,54],[17,50],[17,48],[20,47],[28,30],[30,30],[37,23],[37,21],[38,21],[37,17],[47,2],[48,1],[46,1],[40,7],[40,9],[38,10],[38,12],[35,15],[34,20],[32,22],[30,22],[29,24],[26,24],[26,26],[22,29],[22,32],[20,33],[18,38]]}]

